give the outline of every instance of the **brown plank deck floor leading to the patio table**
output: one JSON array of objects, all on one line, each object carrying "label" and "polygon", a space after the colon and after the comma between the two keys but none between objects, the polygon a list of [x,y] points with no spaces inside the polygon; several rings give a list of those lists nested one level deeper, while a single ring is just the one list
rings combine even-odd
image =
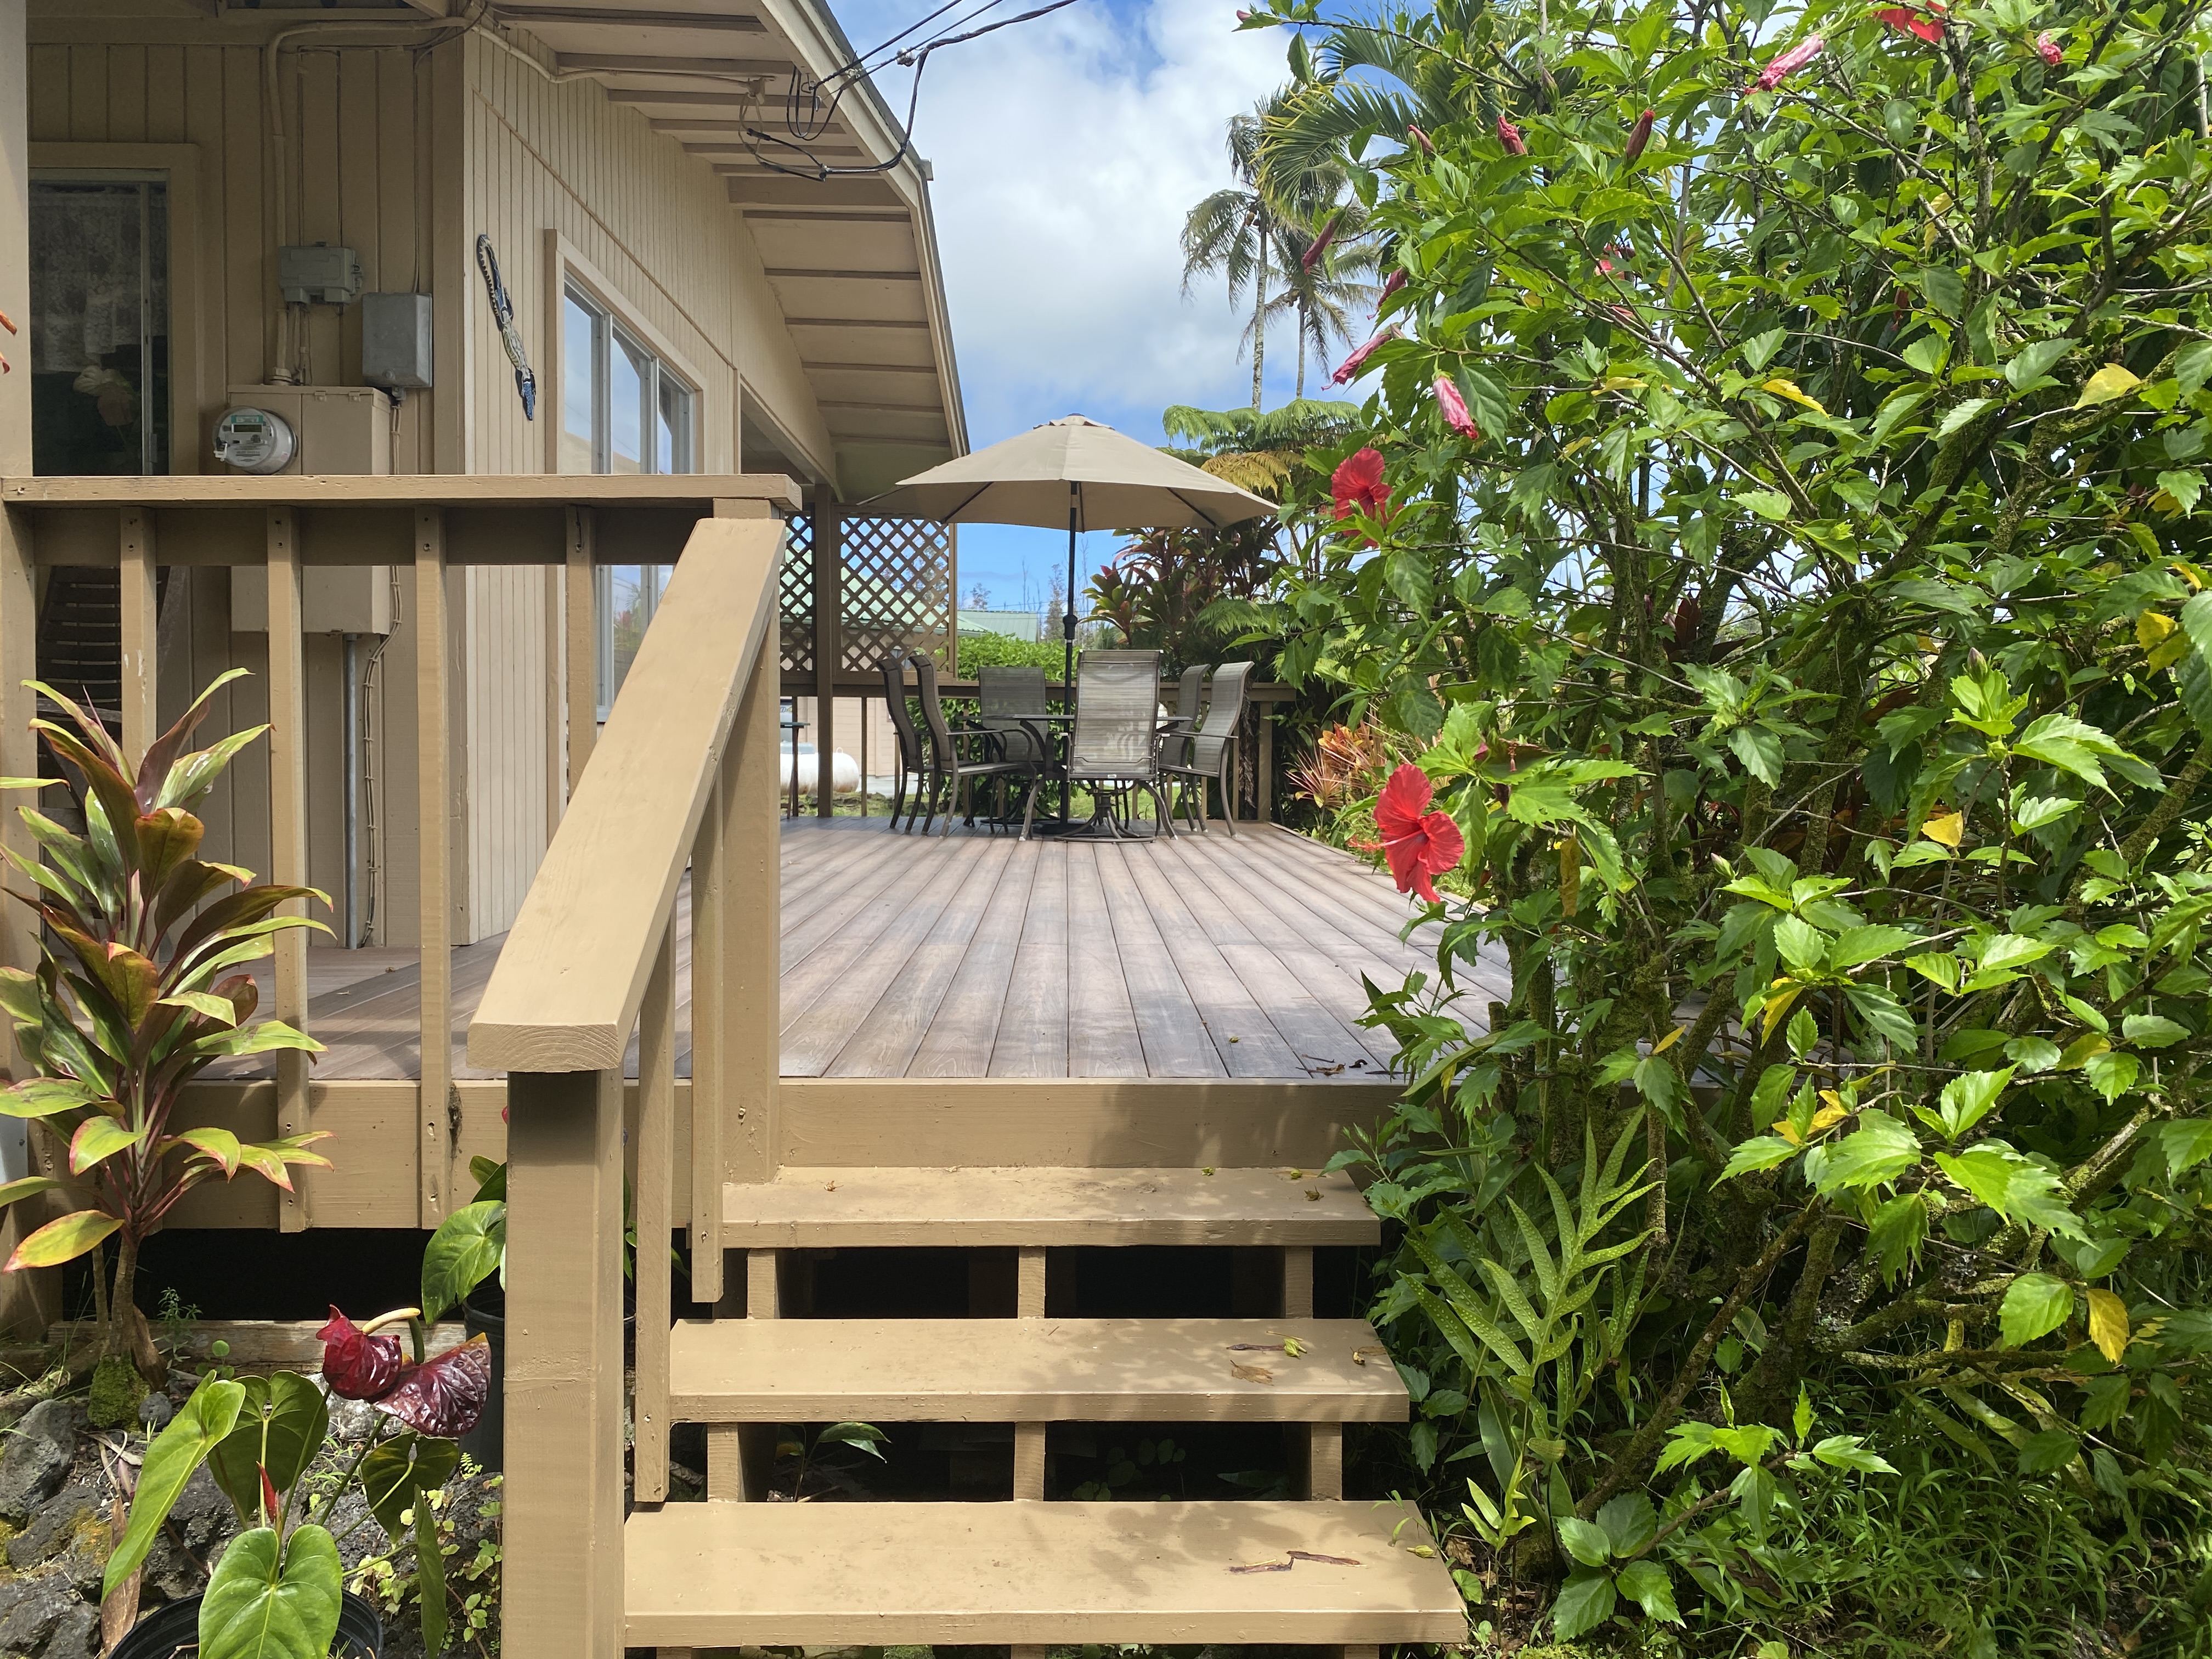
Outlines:
[{"label": "brown plank deck floor leading to the patio table", "polygon": [[[1115,845],[790,821],[783,1075],[1374,1079],[1389,1042],[1358,1026],[1360,975],[1436,964],[1433,929],[1398,940],[1409,914],[1387,876],[1272,825]],[[456,1077],[491,1075],[460,1046],[502,942],[453,951]],[[684,902],[679,987],[688,947]],[[420,1075],[414,951],[319,949],[307,969],[319,1082]],[[1502,964],[1475,978],[1504,993]],[[688,1075],[688,1000],[677,1029]]]}]

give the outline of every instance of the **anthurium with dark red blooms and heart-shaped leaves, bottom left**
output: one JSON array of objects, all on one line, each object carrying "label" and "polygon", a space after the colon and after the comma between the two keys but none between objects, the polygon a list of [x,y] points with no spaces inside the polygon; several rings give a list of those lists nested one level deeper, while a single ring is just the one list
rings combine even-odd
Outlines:
[{"label": "anthurium with dark red blooms and heart-shaped leaves, bottom left", "polygon": [[[407,1321],[414,1354],[380,1327]],[[491,1391],[482,1336],[422,1363],[425,1325],[403,1307],[354,1325],[336,1307],[316,1332],[323,1385],[341,1400],[376,1407],[376,1427],[334,1478],[314,1471],[330,1442],[323,1387],[294,1371],[259,1378],[210,1374],[146,1447],[131,1520],[108,1557],[102,1597],[135,1601],[146,1553],[206,1464],[246,1528],[223,1548],[199,1604],[199,1659],[325,1659],[345,1590],[330,1520],[361,1484],[369,1515],[394,1553],[414,1542],[422,1590],[422,1644],[447,1637],[445,1546],[427,1502],[460,1467],[460,1436],[476,1427]],[[356,1520],[358,1528],[365,1520]],[[347,1528],[347,1531],[352,1531]]]}]

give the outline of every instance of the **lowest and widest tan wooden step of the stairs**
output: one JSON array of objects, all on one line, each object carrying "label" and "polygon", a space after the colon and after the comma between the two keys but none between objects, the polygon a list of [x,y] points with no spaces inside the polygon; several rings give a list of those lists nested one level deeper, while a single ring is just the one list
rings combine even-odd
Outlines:
[{"label": "lowest and widest tan wooden step of the stairs", "polygon": [[1396,1502],[664,1504],[624,1526],[626,1644],[1467,1641],[1416,1548]]}]

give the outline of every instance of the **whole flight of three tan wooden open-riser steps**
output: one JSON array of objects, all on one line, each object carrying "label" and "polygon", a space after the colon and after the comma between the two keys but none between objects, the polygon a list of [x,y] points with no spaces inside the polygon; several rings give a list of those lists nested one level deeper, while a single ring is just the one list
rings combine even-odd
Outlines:
[{"label": "whole flight of three tan wooden open-riser steps", "polygon": [[[1345,1177],[1283,1168],[785,1168],[723,1190],[745,1318],[681,1321],[668,1420],[708,1425],[708,1502],[626,1524],[626,1641],[706,1648],[1462,1641],[1420,1515],[1343,1500],[1343,1425],[1402,1422],[1374,1327],[1314,1318],[1314,1248],[1374,1243]],[[779,1318],[781,1254],[1015,1250],[1015,1318]],[[1228,1245],[1272,1312],[1046,1316],[1046,1252]],[[739,1265],[741,1263],[741,1265]],[[1057,1296],[1057,1292],[1055,1292]],[[768,1498],[776,1422],[1011,1422],[1006,1502]],[[1303,1500],[1044,1502],[1053,1422],[1281,1422]]]}]

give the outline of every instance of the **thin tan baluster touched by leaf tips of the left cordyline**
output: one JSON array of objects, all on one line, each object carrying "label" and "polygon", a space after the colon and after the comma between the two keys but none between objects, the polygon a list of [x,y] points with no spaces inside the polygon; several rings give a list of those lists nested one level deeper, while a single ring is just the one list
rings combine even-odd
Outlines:
[{"label": "thin tan baluster touched by leaf tips of the left cordyline", "polygon": [[[150,566],[148,566],[150,582]],[[126,615],[128,615],[128,588]],[[270,593],[270,880],[281,887],[307,885],[307,675],[305,635],[301,633],[301,566],[299,515],[290,507],[268,513],[268,593]],[[124,657],[128,657],[128,648]],[[124,686],[131,684],[128,666]],[[124,695],[128,703],[128,690]],[[290,916],[305,905],[283,907]],[[288,929],[276,936],[276,1002],[272,1013],[294,1031],[307,1029],[307,933]],[[307,1055],[276,1055],[276,1133],[307,1133]],[[285,1232],[307,1228],[307,1170],[292,1177],[294,1188],[281,1194],[276,1210]]]}]

